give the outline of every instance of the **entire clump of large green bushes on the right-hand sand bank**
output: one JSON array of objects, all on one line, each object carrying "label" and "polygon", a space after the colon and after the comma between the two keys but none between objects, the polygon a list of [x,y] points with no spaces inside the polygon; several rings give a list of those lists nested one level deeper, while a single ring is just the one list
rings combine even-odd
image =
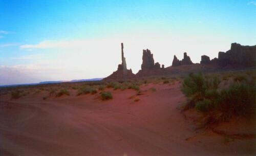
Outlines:
[{"label": "entire clump of large green bushes on the right-hand sand bank", "polygon": [[190,97],[189,107],[199,112],[221,112],[222,119],[234,116],[252,117],[255,115],[256,87],[249,75],[229,75],[233,82],[227,87],[220,87],[217,76],[202,73],[190,73],[184,78],[181,90]]}]

